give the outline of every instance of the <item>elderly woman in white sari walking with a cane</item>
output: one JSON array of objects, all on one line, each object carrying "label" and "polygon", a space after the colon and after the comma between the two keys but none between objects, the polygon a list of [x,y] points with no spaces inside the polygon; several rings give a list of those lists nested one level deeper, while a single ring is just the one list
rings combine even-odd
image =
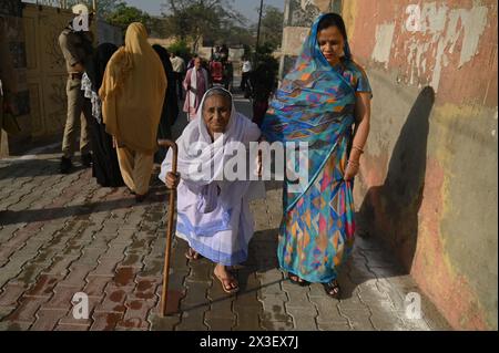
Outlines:
[{"label": "elderly woman in white sari walking with a cane", "polygon": [[259,136],[257,125],[235,111],[231,93],[212,89],[201,102],[197,118],[177,141],[179,174],[170,172],[169,152],[160,175],[169,188],[179,186],[176,236],[190,245],[186,257],[202,256],[216,263],[214,274],[227,293],[238,291],[228,267],[247,259],[254,232],[248,203],[264,186],[249,178],[228,181],[224,169],[234,156],[231,145],[247,148]]}]

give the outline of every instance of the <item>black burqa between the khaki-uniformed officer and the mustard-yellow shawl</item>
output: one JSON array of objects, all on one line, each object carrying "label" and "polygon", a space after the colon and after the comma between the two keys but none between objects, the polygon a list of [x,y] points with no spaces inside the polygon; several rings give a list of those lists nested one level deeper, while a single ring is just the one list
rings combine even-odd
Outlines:
[{"label": "black burqa between the khaki-uniformed officer and the mustard-yellow shawl", "polygon": [[[98,46],[91,62],[86,65],[86,74],[92,82],[92,91],[99,93],[105,72],[105,66],[118,46],[103,43]],[[102,116],[100,122],[93,117],[90,123],[92,155],[92,175],[99,185],[103,187],[122,187],[123,178],[120,172],[116,149],[113,147],[113,138],[105,132]]]}]

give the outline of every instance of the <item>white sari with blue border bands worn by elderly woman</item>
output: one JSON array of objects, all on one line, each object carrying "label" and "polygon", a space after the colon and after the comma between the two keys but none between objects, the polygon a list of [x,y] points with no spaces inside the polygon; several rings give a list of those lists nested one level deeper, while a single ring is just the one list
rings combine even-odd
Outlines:
[{"label": "white sari with blue border bands worn by elderly woman", "polygon": [[[196,120],[187,125],[177,141],[181,183],[177,193],[176,236],[213,262],[235,266],[247,259],[248,243],[254,232],[249,200],[263,197],[265,187],[263,181],[223,180],[221,174],[227,158],[232,157],[227,146],[232,143],[248,146],[249,142],[259,138],[261,132],[256,124],[237,113],[232,104],[226,132],[212,143],[202,116],[205,96]],[[195,150],[193,146],[198,143],[203,143],[204,148]],[[172,170],[171,162],[170,150],[161,168],[160,179],[163,181]],[[198,167],[213,173],[197,174],[194,170],[198,170]]]}]

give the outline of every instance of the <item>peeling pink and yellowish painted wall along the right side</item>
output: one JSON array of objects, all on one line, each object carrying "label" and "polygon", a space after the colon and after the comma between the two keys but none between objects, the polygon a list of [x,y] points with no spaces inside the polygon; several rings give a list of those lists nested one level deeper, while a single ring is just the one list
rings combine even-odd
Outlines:
[{"label": "peeling pink and yellowish painted wall along the right side", "polygon": [[498,328],[497,1],[348,0],[374,89],[356,199],[456,329]]}]

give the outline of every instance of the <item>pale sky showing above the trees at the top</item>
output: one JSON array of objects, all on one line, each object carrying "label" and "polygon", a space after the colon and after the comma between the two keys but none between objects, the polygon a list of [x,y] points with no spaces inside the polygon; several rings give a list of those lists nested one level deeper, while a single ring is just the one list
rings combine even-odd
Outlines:
[{"label": "pale sky showing above the trees at the top", "polygon": [[[259,0],[228,0],[233,3],[234,9],[243,13],[248,20],[256,23],[258,21]],[[164,0],[126,0],[133,7],[147,11],[153,15],[161,14],[161,4]],[[272,4],[284,10],[284,0],[264,0],[264,4]]]}]

